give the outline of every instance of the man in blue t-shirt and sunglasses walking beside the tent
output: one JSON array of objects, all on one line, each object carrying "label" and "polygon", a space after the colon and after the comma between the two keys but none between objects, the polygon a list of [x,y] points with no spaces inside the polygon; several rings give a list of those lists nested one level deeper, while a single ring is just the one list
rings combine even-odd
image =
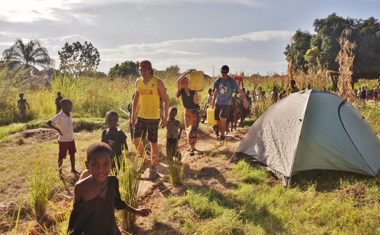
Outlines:
[{"label": "man in blue t-shirt and sunglasses walking beside the tent", "polygon": [[229,116],[229,103],[231,102],[233,90],[237,90],[241,97],[244,98],[244,106],[248,108],[248,100],[244,92],[240,89],[239,85],[232,77],[228,76],[229,67],[223,65],[220,68],[221,77],[217,78],[214,82],[215,91],[212,97],[211,108],[215,108],[215,120],[219,127],[220,135],[216,138],[224,140],[225,132],[225,119]]}]

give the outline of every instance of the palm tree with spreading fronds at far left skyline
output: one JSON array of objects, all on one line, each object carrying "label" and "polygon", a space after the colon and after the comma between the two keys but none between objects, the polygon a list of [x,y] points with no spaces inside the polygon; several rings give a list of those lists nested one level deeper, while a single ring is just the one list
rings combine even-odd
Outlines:
[{"label": "palm tree with spreading fronds at far left skyline", "polygon": [[11,68],[23,66],[30,69],[30,73],[34,74],[38,71],[35,65],[43,68],[54,66],[54,59],[50,58],[47,49],[41,46],[41,42],[37,39],[29,40],[27,44],[17,38],[14,44],[2,52],[5,61],[9,61]]}]

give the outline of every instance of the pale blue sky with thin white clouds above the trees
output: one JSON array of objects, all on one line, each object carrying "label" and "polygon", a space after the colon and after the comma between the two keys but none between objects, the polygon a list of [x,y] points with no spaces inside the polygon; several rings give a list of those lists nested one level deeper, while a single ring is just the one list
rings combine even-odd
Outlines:
[{"label": "pale blue sky with thin white clouds above the trees", "polygon": [[0,7],[0,52],[21,38],[39,39],[59,68],[65,42],[94,45],[98,71],[148,59],[208,75],[226,64],[246,75],[286,73],[283,51],[300,28],[336,12],[380,18],[380,0],[7,0]]}]

